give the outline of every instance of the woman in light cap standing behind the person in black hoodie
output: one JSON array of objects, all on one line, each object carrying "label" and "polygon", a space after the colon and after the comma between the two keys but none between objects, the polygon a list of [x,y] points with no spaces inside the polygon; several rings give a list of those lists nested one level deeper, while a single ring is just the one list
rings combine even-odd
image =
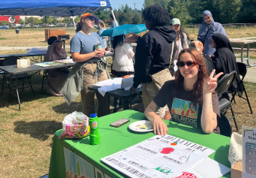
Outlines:
[{"label": "woman in light cap standing behind the person in black hoodie", "polygon": [[174,18],[171,20],[171,27],[174,28],[177,37],[176,37],[176,45],[177,45],[177,50],[176,53],[174,55],[174,59],[172,59],[171,61],[171,68],[170,68],[170,72],[171,75],[174,76],[174,72],[177,71],[177,56],[179,55],[180,51],[188,48],[188,41],[190,40],[190,38],[188,38],[187,34],[183,31],[183,29],[181,29],[180,26],[180,20],[177,18]]}]

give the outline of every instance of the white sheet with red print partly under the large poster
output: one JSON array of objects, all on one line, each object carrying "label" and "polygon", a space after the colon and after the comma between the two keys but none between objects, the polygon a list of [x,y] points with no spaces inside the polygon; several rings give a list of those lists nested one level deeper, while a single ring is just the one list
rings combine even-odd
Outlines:
[{"label": "white sheet with red print partly under the large poster", "polygon": [[219,178],[230,172],[230,168],[224,166],[217,161],[214,161],[211,158],[204,158],[202,161],[199,161],[193,167],[185,170],[183,173],[180,173],[175,178]]}]

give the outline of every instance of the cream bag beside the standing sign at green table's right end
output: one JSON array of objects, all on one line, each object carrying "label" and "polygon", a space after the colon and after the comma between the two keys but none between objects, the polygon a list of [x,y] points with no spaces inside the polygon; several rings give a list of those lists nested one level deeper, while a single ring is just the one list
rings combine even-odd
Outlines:
[{"label": "cream bag beside the standing sign at green table's right end", "polygon": [[236,132],[233,132],[230,139],[229,161],[231,167],[242,161],[242,135]]}]

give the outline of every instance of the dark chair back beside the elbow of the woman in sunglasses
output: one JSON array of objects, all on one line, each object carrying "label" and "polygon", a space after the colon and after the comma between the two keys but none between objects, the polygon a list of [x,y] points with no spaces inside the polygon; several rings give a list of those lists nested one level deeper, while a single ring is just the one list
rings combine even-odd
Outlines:
[{"label": "dark chair back beside the elbow of the woman in sunglasses", "polygon": [[220,128],[221,135],[231,137],[232,125],[230,124],[230,120],[227,119],[227,116],[225,116],[224,113],[221,113],[221,118],[217,119],[217,125]]}]

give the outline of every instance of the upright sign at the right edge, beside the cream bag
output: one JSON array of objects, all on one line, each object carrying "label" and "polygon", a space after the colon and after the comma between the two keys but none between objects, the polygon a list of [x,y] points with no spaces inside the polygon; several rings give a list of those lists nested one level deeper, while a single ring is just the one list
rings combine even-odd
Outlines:
[{"label": "upright sign at the right edge, beside the cream bag", "polygon": [[242,126],[242,177],[256,176],[256,128]]}]

